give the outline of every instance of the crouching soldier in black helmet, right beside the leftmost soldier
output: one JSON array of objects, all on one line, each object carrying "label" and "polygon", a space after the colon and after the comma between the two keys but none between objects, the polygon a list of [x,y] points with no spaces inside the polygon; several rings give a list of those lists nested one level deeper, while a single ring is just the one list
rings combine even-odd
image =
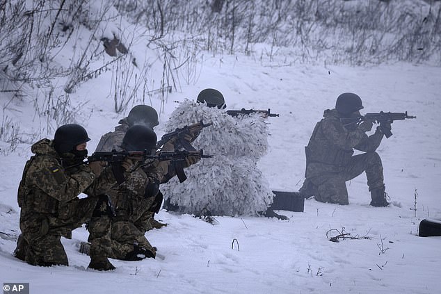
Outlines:
[{"label": "crouching soldier in black helmet, right beside the leftmost soldier", "polygon": [[[147,150],[154,155],[156,144],[152,129],[135,125],[127,130],[120,147],[125,151]],[[116,214],[111,226],[111,257],[126,261],[154,258],[156,249],[145,238],[145,232],[151,228],[149,219],[163,171],[155,161],[146,165],[142,156],[129,156],[126,160],[132,161],[134,168],[125,172],[125,183],[109,192]]]}]

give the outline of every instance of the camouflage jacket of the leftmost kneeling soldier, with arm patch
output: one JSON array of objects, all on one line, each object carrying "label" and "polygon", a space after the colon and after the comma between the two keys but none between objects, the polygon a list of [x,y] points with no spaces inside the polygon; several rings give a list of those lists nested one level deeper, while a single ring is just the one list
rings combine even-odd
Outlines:
[{"label": "camouflage jacket of the leftmost kneeling soldier, with arm patch", "polygon": [[62,163],[51,140],[36,142],[31,151],[35,155],[26,162],[17,195],[24,213],[51,213],[57,218],[68,218],[70,204],[78,201],[79,194],[106,193],[116,183],[110,169],[95,177],[84,164],[66,168],[70,163]]}]

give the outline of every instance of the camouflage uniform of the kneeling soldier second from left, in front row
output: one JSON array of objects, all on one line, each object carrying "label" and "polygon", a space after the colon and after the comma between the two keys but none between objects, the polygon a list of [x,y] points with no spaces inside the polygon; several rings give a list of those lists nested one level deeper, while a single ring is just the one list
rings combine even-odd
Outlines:
[{"label": "camouflage uniform of the kneeling soldier second from left, in front row", "polygon": [[[159,177],[161,170],[136,168],[133,172],[126,172],[125,183],[109,193],[116,213],[111,224],[111,258],[138,260],[136,254],[134,256],[138,248],[156,255],[156,250],[145,238],[145,232],[152,229],[149,220],[158,193]],[[150,184],[156,188],[150,190]]]}]

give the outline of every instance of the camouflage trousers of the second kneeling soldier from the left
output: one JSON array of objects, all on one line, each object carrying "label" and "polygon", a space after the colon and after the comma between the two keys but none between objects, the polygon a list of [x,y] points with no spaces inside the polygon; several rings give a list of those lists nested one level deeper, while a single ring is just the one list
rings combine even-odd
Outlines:
[{"label": "camouflage trousers of the second kneeling soldier from the left", "polygon": [[156,250],[145,238],[145,232],[138,229],[128,220],[115,220],[111,225],[111,253],[112,259],[133,260],[129,256],[138,247],[156,254]]}]

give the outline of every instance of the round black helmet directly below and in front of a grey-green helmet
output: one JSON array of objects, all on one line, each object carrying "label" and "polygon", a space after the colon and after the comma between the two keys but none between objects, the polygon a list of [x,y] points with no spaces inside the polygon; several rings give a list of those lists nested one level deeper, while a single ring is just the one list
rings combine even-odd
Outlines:
[{"label": "round black helmet directly below and in front of a grey-green helmet", "polygon": [[157,134],[152,129],[141,124],[129,127],[121,144],[122,149],[126,151],[151,150],[156,148],[156,146]]}]

